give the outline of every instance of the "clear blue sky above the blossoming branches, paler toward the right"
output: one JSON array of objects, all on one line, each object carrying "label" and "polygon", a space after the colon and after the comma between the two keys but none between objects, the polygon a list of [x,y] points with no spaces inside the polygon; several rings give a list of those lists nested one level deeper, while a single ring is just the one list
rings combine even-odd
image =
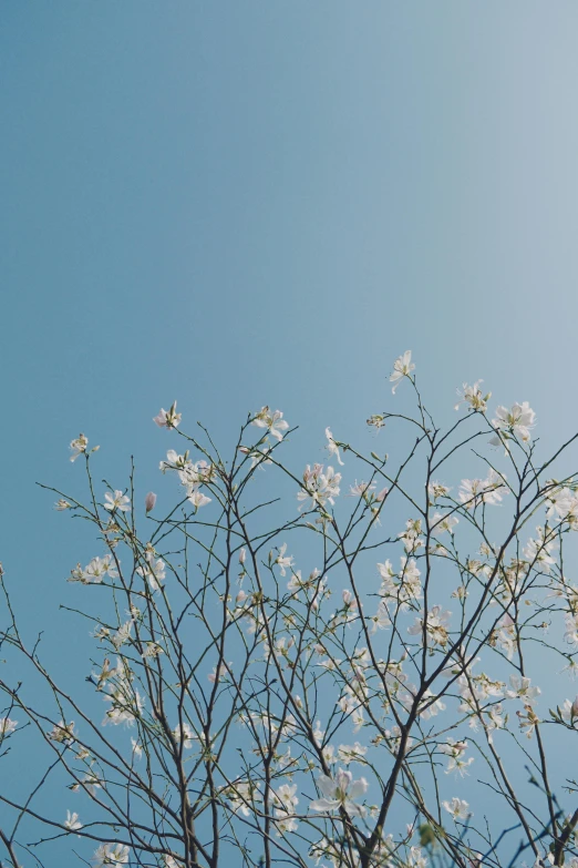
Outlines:
[{"label": "clear blue sky above the blossoming branches, paler toward the right", "polygon": [[433,407],[483,377],[577,429],[577,29],[574,0],[4,0],[0,558],[32,627],[92,556],[34,487],[78,484],[79,431],[147,489],[161,406],[218,435],[270,404],[320,460],[407,348]]}]

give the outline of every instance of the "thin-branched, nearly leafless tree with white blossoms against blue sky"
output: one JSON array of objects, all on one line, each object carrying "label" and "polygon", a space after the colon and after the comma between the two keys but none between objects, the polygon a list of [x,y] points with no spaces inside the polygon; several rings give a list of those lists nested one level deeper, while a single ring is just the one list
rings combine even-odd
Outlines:
[{"label": "thin-branched, nearly leafless tree with white blossoms against blue sky", "polygon": [[[578,483],[551,478],[576,437],[539,459],[528,404],[488,413],[481,381],[441,430],[413,371],[407,351],[390,378],[413,416],[368,420],[381,438],[401,426],[403,455],[363,456],[328,428],[331,463],[299,476],[278,410],[247,419],[230,461],[182,431],[176,404],[161,410],[183,443],[161,462],[177,483],[164,517],[153,492],[138,507],[134,472],[101,489],[95,448],[71,443],[87,497],[58,491],[56,509],[100,542],[68,607],[96,658],[87,686],[64,686],[2,578],[0,755],[30,739],[47,754],[24,800],[0,787],[2,865],[44,865],[68,836],[96,867],[578,866],[578,785],[559,762],[578,697],[566,676],[536,683],[578,671]],[[343,458],[365,480],[347,500]],[[37,809],[64,787],[65,817]],[[21,840],[23,818],[40,839]]]}]

